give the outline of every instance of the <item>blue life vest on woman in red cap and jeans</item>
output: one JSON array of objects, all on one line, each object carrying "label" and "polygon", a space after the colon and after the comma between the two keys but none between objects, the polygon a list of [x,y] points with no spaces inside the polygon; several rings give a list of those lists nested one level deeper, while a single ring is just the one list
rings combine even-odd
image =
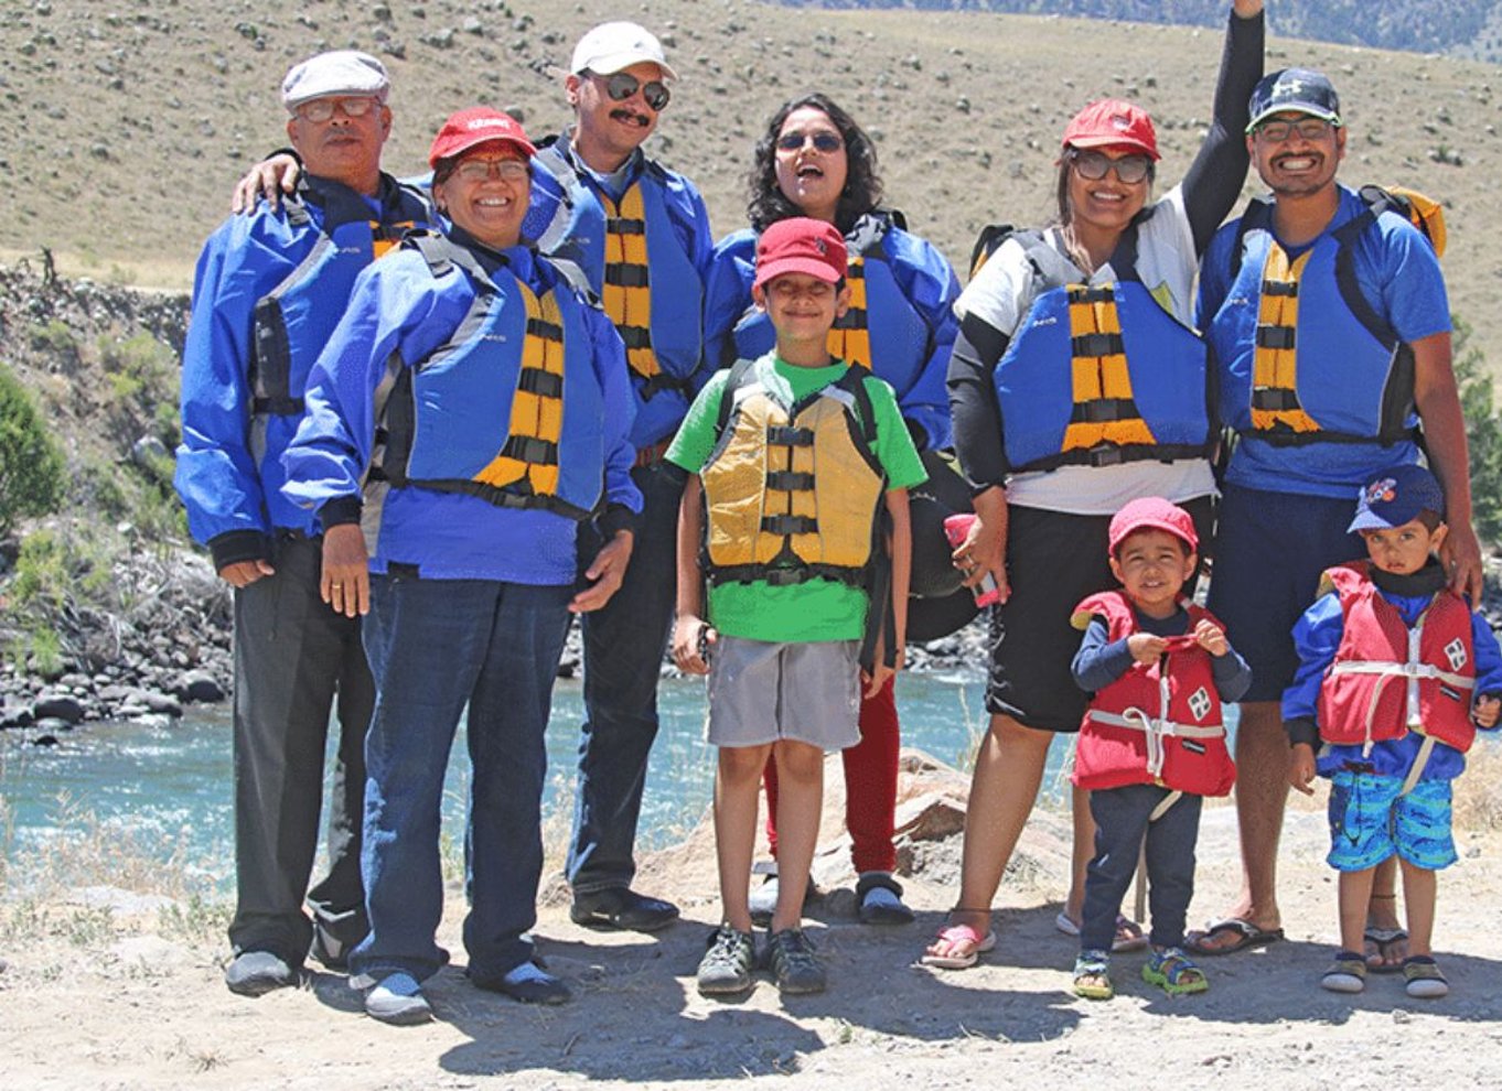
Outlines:
[{"label": "blue life vest on woman in red cap and jeans", "polygon": [[449,341],[397,374],[371,479],[589,518],[604,497],[605,440],[583,278],[539,260],[550,284],[535,294],[443,236],[406,245],[436,278],[469,276],[478,291]]}]

